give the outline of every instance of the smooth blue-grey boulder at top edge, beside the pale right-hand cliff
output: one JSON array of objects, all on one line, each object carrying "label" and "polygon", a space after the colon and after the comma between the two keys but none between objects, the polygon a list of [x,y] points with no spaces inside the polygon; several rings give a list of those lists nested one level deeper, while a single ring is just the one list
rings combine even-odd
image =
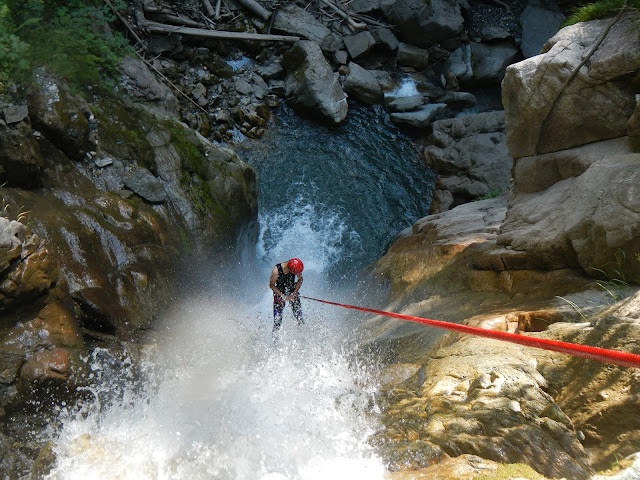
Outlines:
[{"label": "smooth blue-grey boulder at top edge, beside the pale right-hand cliff", "polygon": [[549,6],[541,1],[527,5],[520,14],[522,54],[527,58],[540,54],[547,40],[560,30],[564,19],[557,5]]}]

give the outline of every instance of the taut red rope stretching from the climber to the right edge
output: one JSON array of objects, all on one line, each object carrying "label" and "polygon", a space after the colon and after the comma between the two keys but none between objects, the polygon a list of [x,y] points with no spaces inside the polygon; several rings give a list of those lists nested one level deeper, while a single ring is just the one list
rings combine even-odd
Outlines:
[{"label": "taut red rope stretching from the climber to the right edge", "polygon": [[493,338],[505,342],[517,343],[527,347],[542,348],[554,352],[566,353],[576,357],[589,358],[605,363],[613,363],[621,367],[640,368],[640,355],[633,353],[620,352],[617,350],[608,350],[606,348],[590,347],[588,345],[577,345],[575,343],[560,342],[557,340],[547,340],[544,338],[527,337],[515,333],[500,332],[498,330],[485,330],[478,327],[470,327],[468,325],[459,325],[457,323],[443,322],[441,320],[430,320],[428,318],[413,317],[411,315],[402,315],[400,313],[385,312],[383,310],[374,310],[371,308],[356,307],[354,305],[345,305],[342,303],[329,302],[318,298],[304,297],[307,300],[335,305],[352,310],[360,310],[361,312],[374,313],[376,315],[384,315],[385,317],[399,318],[409,322],[422,323],[436,328],[443,328],[454,332],[468,333],[480,337]]}]

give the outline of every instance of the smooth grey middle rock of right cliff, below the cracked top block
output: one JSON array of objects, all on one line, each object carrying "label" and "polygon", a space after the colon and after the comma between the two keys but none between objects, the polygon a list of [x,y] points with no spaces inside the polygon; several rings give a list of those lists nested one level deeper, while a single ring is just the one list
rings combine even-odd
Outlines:
[{"label": "smooth grey middle rock of right cliff, below the cracked top block", "polygon": [[521,160],[498,243],[548,269],[640,281],[640,154],[617,139]]}]

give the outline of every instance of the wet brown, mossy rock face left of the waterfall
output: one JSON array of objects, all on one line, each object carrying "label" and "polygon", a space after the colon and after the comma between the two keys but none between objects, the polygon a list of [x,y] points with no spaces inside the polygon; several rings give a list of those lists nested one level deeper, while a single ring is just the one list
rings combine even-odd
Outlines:
[{"label": "wet brown, mossy rock face left of the waterfall", "polygon": [[0,125],[0,158],[14,162],[0,216],[0,416],[73,397],[87,338],[137,338],[175,294],[171,272],[218,255],[257,215],[255,171],[233,151],[156,116],[160,105],[89,103],[38,75],[29,116]]}]

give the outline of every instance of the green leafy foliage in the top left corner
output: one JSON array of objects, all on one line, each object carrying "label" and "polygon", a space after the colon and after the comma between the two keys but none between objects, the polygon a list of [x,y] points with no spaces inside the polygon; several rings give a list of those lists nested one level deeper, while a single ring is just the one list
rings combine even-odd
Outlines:
[{"label": "green leafy foliage in the top left corner", "polygon": [[98,0],[0,0],[0,83],[45,66],[75,90],[108,86],[130,49],[111,21]]}]

